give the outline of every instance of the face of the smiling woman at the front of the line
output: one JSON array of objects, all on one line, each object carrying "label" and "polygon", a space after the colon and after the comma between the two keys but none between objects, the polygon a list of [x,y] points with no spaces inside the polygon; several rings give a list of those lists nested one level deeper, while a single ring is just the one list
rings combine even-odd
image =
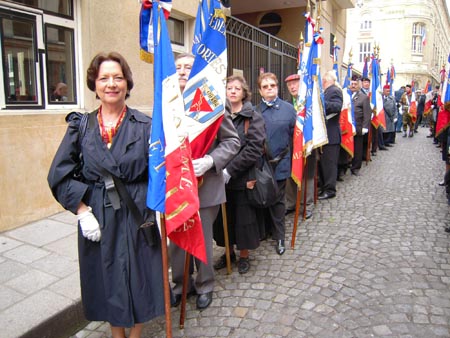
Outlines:
[{"label": "face of the smiling woman at the front of the line", "polygon": [[106,104],[124,104],[127,87],[120,64],[111,60],[102,62],[95,80],[95,93],[100,101]]}]

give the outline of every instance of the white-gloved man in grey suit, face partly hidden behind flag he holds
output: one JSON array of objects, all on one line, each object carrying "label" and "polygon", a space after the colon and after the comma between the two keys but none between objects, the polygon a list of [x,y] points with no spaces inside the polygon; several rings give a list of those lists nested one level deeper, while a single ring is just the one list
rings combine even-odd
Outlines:
[{"label": "white-gloved man in grey suit, face partly hidden behind flag he holds", "polygon": [[[194,56],[188,53],[178,55],[175,65],[178,74],[178,82],[181,92],[184,91],[186,83],[191,73]],[[198,159],[194,159],[195,176],[202,177],[198,187],[200,199],[200,218],[202,220],[203,236],[205,239],[206,258],[208,264],[198,259],[192,259],[189,271],[188,295],[197,294],[197,309],[204,310],[212,302],[214,290],[214,268],[213,268],[213,223],[217,218],[220,205],[225,203],[225,178],[223,169],[227,163],[238,153],[240,141],[233,126],[229,112],[229,103],[226,104],[225,115],[219,127],[217,136],[208,150],[208,153]],[[171,243],[169,252],[172,262],[172,282],[175,302],[173,306],[178,306],[181,302],[183,290],[185,251]],[[197,268],[195,281],[192,278],[194,264]]]}]

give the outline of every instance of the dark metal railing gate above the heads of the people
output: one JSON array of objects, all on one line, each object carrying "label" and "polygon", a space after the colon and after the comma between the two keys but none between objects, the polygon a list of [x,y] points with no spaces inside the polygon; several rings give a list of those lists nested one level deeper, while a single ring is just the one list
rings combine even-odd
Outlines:
[{"label": "dark metal railing gate above the heads of the people", "polygon": [[297,47],[237,18],[227,18],[228,75],[241,71],[252,90],[252,103],[261,101],[257,80],[262,72],[274,73],[280,98],[289,100],[286,76],[297,72]]}]

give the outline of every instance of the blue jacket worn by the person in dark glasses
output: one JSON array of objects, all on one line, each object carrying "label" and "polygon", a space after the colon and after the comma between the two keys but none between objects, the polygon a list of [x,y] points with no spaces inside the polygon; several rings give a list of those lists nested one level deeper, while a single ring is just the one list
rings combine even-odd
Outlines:
[{"label": "blue jacket worn by the person in dark glasses", "polygon": [[277,98],[273,106],[269,107],[261,102],[255,109],[262,113],[266,123],[266,141],[270,155],[276,158],[288,148],[275,169],[275,178],[278,181],[285,180],[291,176],[292,140],[297,112],[292,104],[280,98]]}]

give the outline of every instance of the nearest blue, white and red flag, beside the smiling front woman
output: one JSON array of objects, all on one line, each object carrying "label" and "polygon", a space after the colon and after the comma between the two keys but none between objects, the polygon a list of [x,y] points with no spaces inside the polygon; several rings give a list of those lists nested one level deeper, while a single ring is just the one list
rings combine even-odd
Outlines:
[{"label": "nearest blue, white and red flag, beside the smiling front woman", "polygon": [[206,263],[197,178],[192,166],[189,134],[182,123],[187,118],[183,96],[166,19],[164,12],[158,10],[158,1],[153,2],[152,10],[155,101],[147,205],[165,214],[167,236],[172,242]]}]

